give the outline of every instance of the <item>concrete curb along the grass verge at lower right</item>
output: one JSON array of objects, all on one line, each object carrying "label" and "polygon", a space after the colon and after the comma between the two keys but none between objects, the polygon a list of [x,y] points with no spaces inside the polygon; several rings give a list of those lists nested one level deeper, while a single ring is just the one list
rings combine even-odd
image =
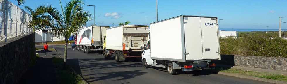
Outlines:
[{"label": "concrete curb along the grass verge at lower right", "polygon": [[255,76],[246,76],[246,75],[235,74],[235,73],[218,72],[218,74],[227,75],[227,76],[234,76],[234,77],[238,77],[238,78],[257,80],[257,81],[263,81],[263,82],[268,82],[268,83],[287,84],[287,82],[285,82],[285,81],[279,81],[279,80],[274,80],[274,79],[266,79],[266,78],[259,78],[259,77],[255,77]]}]

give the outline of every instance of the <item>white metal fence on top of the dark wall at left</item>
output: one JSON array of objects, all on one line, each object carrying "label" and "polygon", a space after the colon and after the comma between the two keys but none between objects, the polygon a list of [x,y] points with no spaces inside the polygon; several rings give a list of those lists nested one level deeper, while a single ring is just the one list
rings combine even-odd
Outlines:
[{"label": "white metal fence on top of the dark wall at left", "polygon": [[0,42],[33,32],[27,26],[32,20],[30,14],[8,0],[0,1]]}]

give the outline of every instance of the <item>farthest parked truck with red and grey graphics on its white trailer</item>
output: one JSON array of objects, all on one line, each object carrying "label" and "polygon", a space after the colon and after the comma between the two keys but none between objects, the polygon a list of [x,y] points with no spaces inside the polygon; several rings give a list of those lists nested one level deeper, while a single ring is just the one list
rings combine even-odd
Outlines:
[{"label": "farthest parked truck with red and grey graphics on its white trailer", "polygon": [[82,28],[76,35],[75,50],[84,51],[102,51],[103,37],[106,35],[106,29],[109,26],[90,26]]}]

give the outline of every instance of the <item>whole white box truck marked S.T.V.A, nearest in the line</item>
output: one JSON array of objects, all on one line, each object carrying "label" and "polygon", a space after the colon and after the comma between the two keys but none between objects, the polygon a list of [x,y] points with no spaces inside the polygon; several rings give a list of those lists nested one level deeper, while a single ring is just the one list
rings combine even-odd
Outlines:
[{"label": "whole white box truck marked S.T.V.A, nearest in the line", "polygon": [[150,24],[150,41],[141,48],[143,67],[180,71],[215,68],[220,60],[217,17],[181,15]]}]

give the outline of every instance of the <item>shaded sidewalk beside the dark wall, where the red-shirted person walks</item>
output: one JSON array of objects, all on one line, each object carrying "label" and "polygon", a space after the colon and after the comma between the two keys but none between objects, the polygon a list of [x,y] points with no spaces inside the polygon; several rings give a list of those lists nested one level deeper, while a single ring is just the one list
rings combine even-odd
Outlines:
[{"label": "shaded sidewalk beside the dark wall, where the red-shirted person walks", "polygon": [[57,78],[54,71],[54,65],[52,63],[52,57],[58,56],[56,51],[48,51],[48,55],[45,56],[45,52],[39,52],[40,58],[36,60],[34,66],[24,74],[19,81],[19,84],[56,84]]}]

